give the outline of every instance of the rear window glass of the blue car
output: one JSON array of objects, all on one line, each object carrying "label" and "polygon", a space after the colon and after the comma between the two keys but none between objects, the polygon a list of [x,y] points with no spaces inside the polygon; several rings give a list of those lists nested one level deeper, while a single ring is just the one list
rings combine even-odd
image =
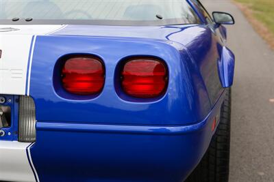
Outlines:
[{"label": "rear window glass of the blue car", "polygon": [[[1,0],[0,20],[32,18],[33,22],[104,22],[196,24],[195,12],[186,0]],[[16,22],[14,22],[16,23]],[[32,22],[28,22],[32,23]]]}]

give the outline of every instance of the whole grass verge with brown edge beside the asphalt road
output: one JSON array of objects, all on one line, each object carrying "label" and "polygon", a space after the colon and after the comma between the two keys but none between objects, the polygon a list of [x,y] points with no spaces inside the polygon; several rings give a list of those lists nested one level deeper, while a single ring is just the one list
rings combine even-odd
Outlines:
[{"label": "whole grass verge with brown edge beside the asphalt road", "polygon": [[274,49],[274,0],[234,0],[253,27]]}]

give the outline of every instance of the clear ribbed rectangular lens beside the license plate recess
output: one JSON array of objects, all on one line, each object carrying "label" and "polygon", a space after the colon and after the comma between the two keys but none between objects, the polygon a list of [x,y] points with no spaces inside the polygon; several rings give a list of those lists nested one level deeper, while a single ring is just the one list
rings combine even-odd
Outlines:
[{"label": "clear ribbed rectangular lens beside the license plate recess", "polygon": [[20,96],[19,98],[19,123],[18,141],[36,141],[36,114],[32,97]]}]

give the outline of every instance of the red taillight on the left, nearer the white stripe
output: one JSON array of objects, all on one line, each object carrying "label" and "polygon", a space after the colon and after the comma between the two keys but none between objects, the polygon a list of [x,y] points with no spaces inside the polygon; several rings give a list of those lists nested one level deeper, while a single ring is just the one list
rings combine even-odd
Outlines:
[{"label": "red taillight on the left, nearer the white stripe", "polygon": [[62,85],[69,93],[93,95],[101,92],[105,82],[105,68],[99,59],[73,57],[62,68]]}]

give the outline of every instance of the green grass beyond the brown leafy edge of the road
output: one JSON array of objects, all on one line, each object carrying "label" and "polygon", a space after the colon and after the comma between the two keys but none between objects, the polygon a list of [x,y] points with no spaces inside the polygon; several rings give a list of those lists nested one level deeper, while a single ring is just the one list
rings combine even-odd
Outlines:
[{"label": "green grass beyond the brown leafy edge of the road", "polygon": [[253,16],[269,28],[274,34],[274,0],[236,0],[247,5]]}]

